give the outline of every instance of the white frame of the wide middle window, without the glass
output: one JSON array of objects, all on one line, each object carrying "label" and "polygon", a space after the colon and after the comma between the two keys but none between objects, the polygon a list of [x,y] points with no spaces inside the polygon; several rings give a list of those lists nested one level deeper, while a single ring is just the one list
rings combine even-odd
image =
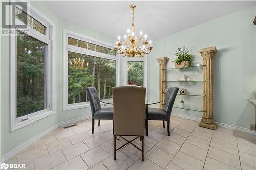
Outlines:
[{"label": "white frame of the wide middle window, without the glass", "polygon": [[[119,80],[120,80],[120,75],[119,75],[119,66],[120,66],[120,61],[119,61],[119,56],[113,56],[110,54],[105,54],[105,53],[100,53],[97,51],[92,51],[88,50],[86,48],[78,47],[78,46],[73,46],[68,44],[68,37],[70,38],[75,38],[81,41],[86,41],[92,44],[100,45],[103,47],[108,47],[110,49],[114,49],[115,46],[99,41],[97,39],[94,39],[92,37],[84,36],[78,33],[75,33],[73,31],[67,30],[67,29],[62,29],[62,110],[67,111],[67,110],[73,110],[73,109],[80,109],[80,108],[86,108],[90,107],[89,102],[80,102],[80,103],[72,103],[68,104],[68,52],[75,52],[75,53],[80,53],[80,54],[85,54],[85,55],[90,55],[94,57],[100,57],[104,59],[110,59],[110,60],[115,60],[116,63],[116,86],[119,85]],[[106,99],[108,101],[108,99]]]}]

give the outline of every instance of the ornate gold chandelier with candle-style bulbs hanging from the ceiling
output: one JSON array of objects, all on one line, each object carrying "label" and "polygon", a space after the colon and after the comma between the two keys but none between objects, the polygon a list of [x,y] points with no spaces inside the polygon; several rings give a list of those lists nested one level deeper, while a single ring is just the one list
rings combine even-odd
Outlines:
[{"label": "ornate gold chandelier with candle-style bulbs hanging from the ceiling", "polygon": [[[134,30],[135,30],[134,9],[136,6],[133,4],[130,7],[133,11],[132,30],[131,30],[132,32],[130,31],[130,29],[127,30],[128,35],[124,35],[123,45],[120,42],[121,37],[118,36],[118,41],[116,42],[115,51],[117,54],[121,54],[123,57],[125,57],[126,55],[128,57],[134,57],[134,56],[144,57],[145,54],[148,54],[151,52],[153,47],[151,46],[151,40],[147,41],[146,34],[144,35],[144,38],[143,38],[142,31],[140,32],[140,38],[137,40],[137,37],[135,36],[135,33],[134,33]],[[139,44],[141,44],[142,47]],[[149,46],[147,46],[148,44]],[[131,45],[131,47],[124,46],[124,45]]]}]

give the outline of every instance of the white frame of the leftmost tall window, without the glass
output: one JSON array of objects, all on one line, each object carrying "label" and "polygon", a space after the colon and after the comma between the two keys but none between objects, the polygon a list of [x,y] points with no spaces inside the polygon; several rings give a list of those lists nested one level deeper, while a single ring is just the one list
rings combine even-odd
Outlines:
[{"label": "white frame of the leftmost tall window, without the glass", "polygon": [[[20,5],[22,6],[22,5]],[[11,7],[10,7],[11,8]],[[23,8],[26,8],[23,6]],[[49,20],[45,15],[41,14],[38,10],[36,10],[33,6],[27,8],[27,14],[31,17],[35,18],[38,22],[42,23],[47,27],[46,35],[41,34],[40,32],[34,30],[29,27],[29,31],[26,33],[27,36],[31,36],[32,38],[41,41],[47,44],[46,50],[46,109],[36,111],[24,116],[17,117],[17,34],[10,35],[10,112],[11,112],[11,127],[10,130],[15,131],[17,129],[23,128],[29,124],[32,124],[42,118],[48,117],[52,114],[56,113],[55,106],[55,70],[53,69],[53,65],[55,63],[53,48],[53,41],[55,40],[55,28],[54,23]],[[10,16],[11,16],[10,9]],[[11,20],[11,18],[10,18]],[[15,18],[16,23],[20,21]],[[18,26],[16,26],[15,31],[24,30]],[[29,119],[22,120],[25,117],[29,117]]]}]

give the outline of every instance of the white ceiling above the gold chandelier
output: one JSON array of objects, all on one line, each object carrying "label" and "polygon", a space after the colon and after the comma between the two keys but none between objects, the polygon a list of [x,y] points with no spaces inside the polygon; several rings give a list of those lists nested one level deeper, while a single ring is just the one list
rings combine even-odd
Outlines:
[{"label": "white ceiling above the gold chandelier", "polygon": [[[157,39],[200,23],[254,5],[255,1],[44,1],[59,17],[107,36],[123,37],[132,25],[131,4],[135,4],[135,30]],[[251,21],[253,21],[252,18]]]}]

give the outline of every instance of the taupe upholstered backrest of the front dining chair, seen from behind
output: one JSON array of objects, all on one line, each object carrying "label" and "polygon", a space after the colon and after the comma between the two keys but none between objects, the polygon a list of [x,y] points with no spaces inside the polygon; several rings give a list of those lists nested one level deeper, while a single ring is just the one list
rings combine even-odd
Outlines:
[{"label": "taupe upholstered backrest of the front dining chair, seen from behind", "polygon": [[144,136],[145,97],[145,87],[113,87],[114,135]]}]

